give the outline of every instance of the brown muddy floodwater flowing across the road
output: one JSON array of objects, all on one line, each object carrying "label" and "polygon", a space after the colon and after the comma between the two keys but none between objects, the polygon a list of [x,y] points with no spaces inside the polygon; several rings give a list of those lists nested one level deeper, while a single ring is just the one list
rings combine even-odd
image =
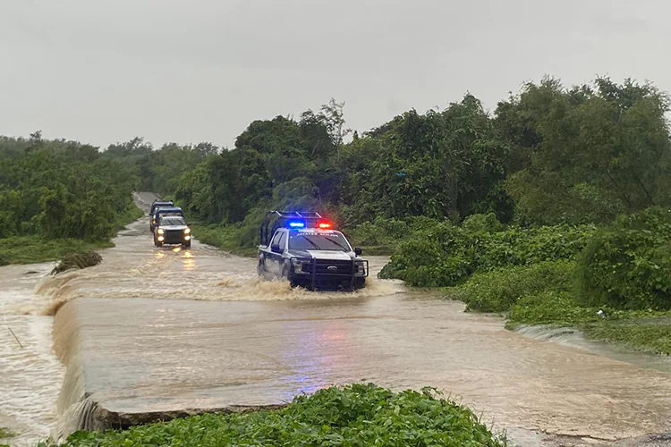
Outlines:
[{"label": "brown muddy floodwater flowing across the road", "polygon": [[[50,265],[0,268],[3,326],[23,344],[0,331],[0,426],[22,434],[17,445],[81,425],[90,401],[119,412],[273,404],[361,380],[436,386],[512,431],[616,439],[671,428],[662,358],[575,333],[511,333],[398,282],[291,290],[259,281],[254,259],[197,241],[156,249],[146,219],[115,243],[99,266],[55,278]],[[370,261],[378,270],[386,259]]]}]

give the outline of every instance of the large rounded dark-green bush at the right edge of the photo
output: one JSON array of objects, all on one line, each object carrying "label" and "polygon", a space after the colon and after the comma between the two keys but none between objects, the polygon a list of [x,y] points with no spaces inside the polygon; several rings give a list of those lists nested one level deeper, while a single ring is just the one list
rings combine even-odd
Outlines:
[{"label": "large rounded dark-green bush at the right edge of the photo", "polygon": [[593,234],[576,278],[586,305],[671,308],[671,212],[650,208],[621,216]]}]

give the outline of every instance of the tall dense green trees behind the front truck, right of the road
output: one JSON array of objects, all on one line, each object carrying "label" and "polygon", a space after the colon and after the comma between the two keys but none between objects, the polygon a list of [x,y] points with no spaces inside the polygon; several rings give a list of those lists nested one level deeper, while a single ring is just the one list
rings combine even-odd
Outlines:
[{"label": "tall dense green trees behind the front truck, right of the road", "polygon": [[194,221],[236,228],[238,247],[254,246],[268,207],[319,209],[350,230],[488,213],[521,228],[603,224],[669,202],[667,109],[649,84],[597,79],[565,89],[548,78],[492,114],[466,95],[359,135],[331,100],[297,120],[252,122],[230,150],[152,150],[133,139],[105,156],[132,167],[141,188],[177,199]]}]

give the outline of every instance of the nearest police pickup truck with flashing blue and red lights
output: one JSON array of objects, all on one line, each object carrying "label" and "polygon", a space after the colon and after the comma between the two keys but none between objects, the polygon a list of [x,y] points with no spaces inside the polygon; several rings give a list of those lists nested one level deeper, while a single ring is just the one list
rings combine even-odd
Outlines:
[{"label": "nearest police pickup truck with flashing blue and red lights", "polygon": [[269,211],[261,223],[259,276],[292,287],[353,291],[366,285],[368,261],[318,213]]}]

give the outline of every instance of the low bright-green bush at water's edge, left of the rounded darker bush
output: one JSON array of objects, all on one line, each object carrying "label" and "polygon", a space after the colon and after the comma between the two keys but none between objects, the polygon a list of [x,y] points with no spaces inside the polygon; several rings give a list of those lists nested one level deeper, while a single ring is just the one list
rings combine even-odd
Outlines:
[{"label": "low bright-green bush at water's edge, left of the rounded darker bush", "polygon": [[574,265],[568,261],[543,262],[473,274],[461,287],[469,310],[507,312],[522,297],[544,291],[569,291]]}]

